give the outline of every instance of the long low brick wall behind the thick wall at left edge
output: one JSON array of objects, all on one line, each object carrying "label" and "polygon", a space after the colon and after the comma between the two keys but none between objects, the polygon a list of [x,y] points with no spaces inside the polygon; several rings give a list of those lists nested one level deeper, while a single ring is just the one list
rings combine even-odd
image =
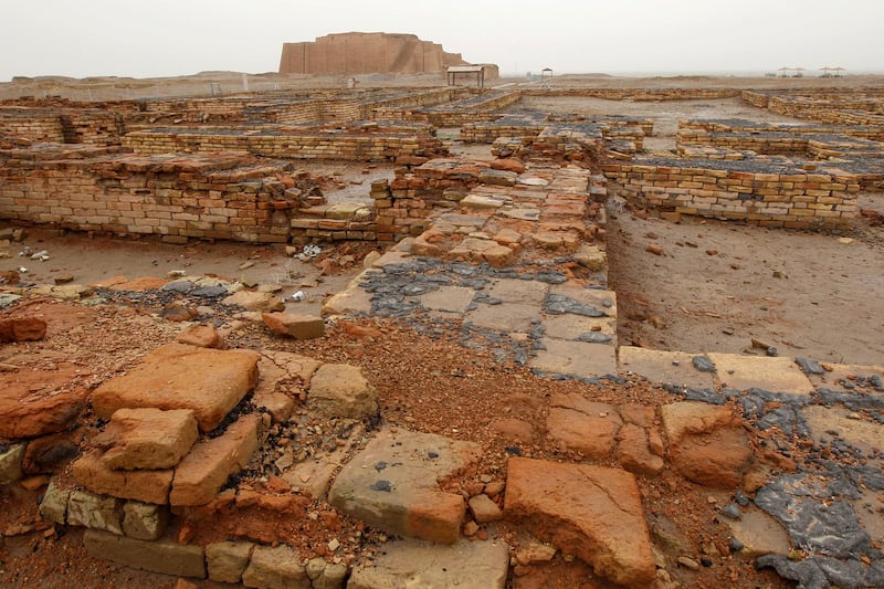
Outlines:
[{"label": "long low brick wall behind the thick wall at left edge", "polygon": [[124,145],[139,154],[218,152],[283,159],[392,161],[443,152],[434,137],[418,135],[256,133],[242,129],[154,129],[128,134]]}]

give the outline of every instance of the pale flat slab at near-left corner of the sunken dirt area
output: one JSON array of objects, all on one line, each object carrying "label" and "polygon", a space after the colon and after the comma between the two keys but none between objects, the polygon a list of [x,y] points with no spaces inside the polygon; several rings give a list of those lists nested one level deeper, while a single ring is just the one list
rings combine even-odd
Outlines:
[{"label": "pale flat slab at near-left corner of the sunken dirt area", "polygon": [[620,346],[618,354],[622,374],[641,375],[651,382],[715,390],[713,375],[694,368],[692,354],[633,346]]}]

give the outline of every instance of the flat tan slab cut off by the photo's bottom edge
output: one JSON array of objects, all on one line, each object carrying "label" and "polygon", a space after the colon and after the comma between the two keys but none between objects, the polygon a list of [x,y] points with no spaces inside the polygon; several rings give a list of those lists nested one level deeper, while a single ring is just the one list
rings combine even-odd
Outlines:
[{"label": "flat tan slab cut off by the photo's bottom edge", "polygon": [[509,568],[505,543],[461,540],[440,546],[425,540],[388,543],[371,567],[355,567],[347,589],[392,587],[482,587],[503,589]]}]

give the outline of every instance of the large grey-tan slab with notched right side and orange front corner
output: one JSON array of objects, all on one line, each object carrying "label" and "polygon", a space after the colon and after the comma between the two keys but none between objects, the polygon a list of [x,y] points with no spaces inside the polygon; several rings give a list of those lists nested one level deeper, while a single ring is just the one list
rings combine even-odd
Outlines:
[{"label": "large grey-tan slab with notched right side and orange front corner", "polygon": [[453,544],[466,506],[439,482],[474,469],[480,455],[475,443],[385,429],[344,466],[328,502],[388,533]]}]

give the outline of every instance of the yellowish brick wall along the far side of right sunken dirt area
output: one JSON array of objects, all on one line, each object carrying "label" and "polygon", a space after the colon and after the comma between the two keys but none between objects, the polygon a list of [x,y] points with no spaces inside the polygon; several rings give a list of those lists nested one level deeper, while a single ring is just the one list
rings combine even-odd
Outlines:
[{"label": "yellowish brick wall along the far side of right sunken dirt area", "polygon": [[[850,227],[860,191],[854,175],[808,173],[743,162],[603,165],[611,193],[654,209],[764,227]],[[757,170],[757,171],[756,171]]]}]

